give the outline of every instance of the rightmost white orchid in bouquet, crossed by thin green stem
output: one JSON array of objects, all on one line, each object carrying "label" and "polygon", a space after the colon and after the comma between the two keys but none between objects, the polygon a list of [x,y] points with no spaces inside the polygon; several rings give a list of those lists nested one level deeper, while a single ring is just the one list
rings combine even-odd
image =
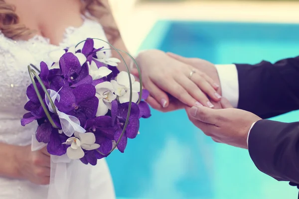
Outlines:
[{"label": "rightmost white orchid in bouquet, crossed by thin green stem", "polygon": [[[140,92],[140,83],[135,81],[135,78],[132,74],[131,81],[132,81],[132,101],[136,103],[139,99]],[[128,73],[125,71],[122,71],[118,74],[116,77],[116,81],[111,81],[115,94],[119,97],[120,103],[125,103],[130,101],[130,81]]]}]

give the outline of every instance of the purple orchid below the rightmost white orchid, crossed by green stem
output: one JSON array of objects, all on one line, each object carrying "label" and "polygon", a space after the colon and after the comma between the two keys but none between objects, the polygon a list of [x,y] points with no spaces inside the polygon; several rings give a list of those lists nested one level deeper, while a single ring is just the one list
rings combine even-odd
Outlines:
[{"label": "purple orchid below the rightmost white orchid, crossed by green stem", "polygon": [[[128,110],[129,110],[129,102],[118,104],[117,101],[113,101],[111,114],[112,114],[113,121],[115,122],[115,125],[118,128],[114,135],[116,142],[119,140],[123,132]],[[120,152],[124,153],[125,148],[127,146],[128,138],[133,139],[137,136],[139,131],[139,118],[140,118],[139,107],[136,103],[132,103],[129,123],[127,125],[123,137],[121,138],[121,141],[117,146]]]}]

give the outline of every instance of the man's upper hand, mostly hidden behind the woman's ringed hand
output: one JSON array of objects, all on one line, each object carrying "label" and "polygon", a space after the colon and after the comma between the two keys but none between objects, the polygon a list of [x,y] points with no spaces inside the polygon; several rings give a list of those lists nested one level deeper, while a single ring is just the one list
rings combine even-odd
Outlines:
[{"label": "man's upper hand, mostly hidden behind the woman's ringed hand", "polygon": [[220,84],[220,80],[219,80],[219,76],[218,76],[218,72],[216,70],[216,67],[214,64],[212,64],[211,62],[208,62],[206,60],[203,59],[198,59],[198,58],[185,58],[182,57],[180,55],[174,54],[174,53],[166,53],[168,56],[172,57],[173,59],[176,59],[177,61],[183,62],[187,65],[190,65],[194,68],[196,68],[199,71],[202,71],[203,73],[205,73],[206,75],[208,75],[210,78],[212,78],[212,80],[220,85],[220,87],[217,90],[217,93],[222,96],[221,93],[221,84]]}]

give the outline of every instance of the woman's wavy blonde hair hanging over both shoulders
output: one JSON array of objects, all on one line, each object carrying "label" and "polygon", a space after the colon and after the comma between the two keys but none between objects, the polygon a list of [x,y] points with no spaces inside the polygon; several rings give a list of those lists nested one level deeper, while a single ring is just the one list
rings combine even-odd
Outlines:
[{"label": "woman's wavy blonde hair hanging over both shoulders", "polygon": [[[83,0],[81,13],[86,17],[99,21],[111,43],[120,37],[120,33],[111,15],[108,6],[102,0]],[[0,0],[0,30],[8,38],[18,39],[31,35],[30,30],[24,24],[19,23],[19,17],[15,13],[15,6]]]}]

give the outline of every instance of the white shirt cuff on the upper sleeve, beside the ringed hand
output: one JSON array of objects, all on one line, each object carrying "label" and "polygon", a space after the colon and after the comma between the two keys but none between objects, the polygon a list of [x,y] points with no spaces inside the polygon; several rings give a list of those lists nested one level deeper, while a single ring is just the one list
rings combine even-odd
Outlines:
[{"label": "white shirt cuff on the upper sleeve, beside the ringed hand", "polygon": [[222,96],[229,100],[234,108],[238,106],[239,101],[239,82],[238,82],[238,71],[236,65],[215,65],[220,85]]}]

